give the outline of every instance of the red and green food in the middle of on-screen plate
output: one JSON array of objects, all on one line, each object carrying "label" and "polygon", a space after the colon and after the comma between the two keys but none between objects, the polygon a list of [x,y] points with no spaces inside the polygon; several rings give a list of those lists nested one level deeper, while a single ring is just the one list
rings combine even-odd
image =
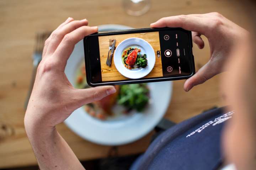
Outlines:
[{"label": "red and green food in the middle of on-screen plate", "polygon": [[141,54],[139,47],[132,46],[124,49],[122,53],[122,61],[124,67],[128,69],[133,68],[145,68],[148,66],[148,60],[146,59],[146,54]]}]

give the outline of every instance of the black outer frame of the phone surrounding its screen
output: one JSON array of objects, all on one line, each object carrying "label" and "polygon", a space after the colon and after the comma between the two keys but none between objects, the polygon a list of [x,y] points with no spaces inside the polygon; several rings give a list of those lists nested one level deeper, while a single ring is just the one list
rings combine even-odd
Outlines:
[{"label": "black outer frame of the phone surrounding its screen", "polygon": [[[90,77],[90,64],[89,64],[89,47],[87,43],[87,39],[89,36],[104,36],[104,35],[118,35],[118,34],[130,34],[130,33],[140,33],[140,32],[154,32],[154,31],[161,31],[161,30],[182,30],[188,32],[188,45],[189,45],[189,53],[190,53],[190,63],[192,68],[192,73],[190,75],[183,75],[183,76],[174,76],[174,77],[161,77],[161,78],[148,78],[148,79],[128,79],[128,80],[118,80],[112,82],[101,82],[101,83],[92,83]],[[140,29],[129,29],[129,30],[118,30],[118,31],[109,31],[109,32],[97,32],[91,34],[84,38],[84,54],[85,54],[85,69],[86,69],[86,81],[88,85],[95,87],[95,86],[102,86],[102,85],[122,85],[122,84],[134,84],[134,83],[150,83],[150,82],[159,82],[159,81],[172,81],[172,80],[182,80],[188,79],[192,75],[195,74],[195,66],[194,66],[194,56],[193,56],[193,43],[192,43],[192,34],[191,31],[182,29],[182,28],[140,28]]]}]

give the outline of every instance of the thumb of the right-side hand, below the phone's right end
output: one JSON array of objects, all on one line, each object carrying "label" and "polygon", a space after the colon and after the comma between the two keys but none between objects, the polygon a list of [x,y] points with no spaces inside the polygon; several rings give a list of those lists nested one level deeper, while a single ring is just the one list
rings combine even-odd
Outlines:
[{"label": "thumb of the right-side hand, below the phone's right end", "polygon": [[183,86],[185,91],[191,90],[194,86],[204,83],[206,80],[212,78],[214,75],[218,74],[215,71],[211,61],[208,61],[202,68],[200,68],[196,74],[194,74],[191,78],[185,81]]}]

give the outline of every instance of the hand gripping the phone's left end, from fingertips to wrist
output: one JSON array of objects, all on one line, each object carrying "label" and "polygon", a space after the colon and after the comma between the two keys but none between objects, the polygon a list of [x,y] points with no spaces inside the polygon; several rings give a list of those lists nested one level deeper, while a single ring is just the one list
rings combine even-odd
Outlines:
[{"label": "hand gripping the phone's left end, from fingertips to wrist", "polygon": [[28,135],[38,129],[51,129],[82,105],[116,92],[113,86],[75,89],[66,78],[66,62],[75,44],[98,30],[87,24],[86,19],[68,18],[46,40],[25,115]]}]

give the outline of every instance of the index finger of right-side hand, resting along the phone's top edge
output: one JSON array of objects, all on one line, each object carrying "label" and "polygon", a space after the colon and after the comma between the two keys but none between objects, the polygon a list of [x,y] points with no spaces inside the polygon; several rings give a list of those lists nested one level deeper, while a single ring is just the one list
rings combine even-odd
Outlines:
[{"label": "index finger of right-side hand, resting along the phone's top edge", "polygon": [[209,25],[209,18],[201,17],[201,15],[178,15],[161,18],[150,24],[150,27],[181,27],[205,35],[209,30]]}]

